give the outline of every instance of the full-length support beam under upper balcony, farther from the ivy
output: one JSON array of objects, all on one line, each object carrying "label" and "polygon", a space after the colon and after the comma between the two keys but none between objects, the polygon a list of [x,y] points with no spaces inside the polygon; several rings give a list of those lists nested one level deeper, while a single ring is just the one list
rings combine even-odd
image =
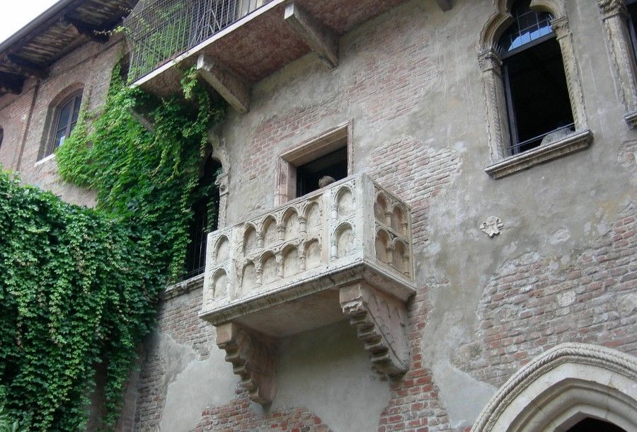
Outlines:
[{"label": "full-length support beam under upper balcony, farther from the ivy", "polygon": [[285,6],[285,22],[330,68],[338,66],[338,38],[296,2]]}]

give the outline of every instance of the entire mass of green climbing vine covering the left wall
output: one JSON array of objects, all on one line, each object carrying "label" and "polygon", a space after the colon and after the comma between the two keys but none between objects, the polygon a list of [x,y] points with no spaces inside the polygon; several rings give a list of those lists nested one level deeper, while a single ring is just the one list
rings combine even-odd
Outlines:
[{"label": "entire mass of green climbing vine covering the left wall", "polygon": [[[116,68],[101,114],[81,113],[57,162],[96,191],[96,209],[0,174],[0,404],[11,421],[82,430],[101,365],[113,428],[159,293],[183,271],[207,130],[222,118],[192,73],[183,87],[185,103],[153,100]],[[153,133],[132,115],[140,104]]]}]

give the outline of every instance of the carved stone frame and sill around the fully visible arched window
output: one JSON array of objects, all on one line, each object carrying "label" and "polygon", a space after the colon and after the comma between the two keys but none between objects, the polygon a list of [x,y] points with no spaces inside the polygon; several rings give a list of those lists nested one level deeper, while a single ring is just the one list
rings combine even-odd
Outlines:
[{"label": "carved stone frame and sill around the fully visible arched window", "polygon": [[575,132],[523,153],[515,155],[508,153],[511,139],[502,76],[502,58],[497,46],[500,36],[513,23],[514,18],[510,14],[513,2],[514,0],[495,0],[495,12],[484,25],[478,42],[478,65],[482,73],[490,159],[485,172],[493,178],[514,174],[534,165],[577,152],[588,147],[592,142],[584,104],[580,67],[575,57],[573,34],[568,23],[566,6],[563,0],[532,0],[531,8],[551,13],[554,17],[551,28],[556,34],[556,40],[562,52]]}]

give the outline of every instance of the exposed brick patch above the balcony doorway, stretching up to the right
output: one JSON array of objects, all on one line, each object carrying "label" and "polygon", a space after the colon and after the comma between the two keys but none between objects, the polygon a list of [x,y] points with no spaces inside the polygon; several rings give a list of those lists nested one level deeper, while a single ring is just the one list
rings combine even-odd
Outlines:
[{"label": "exposed brick patch above the balcony doorway, stretching up to the right", "polygon": [[310,130],[316,135],[324,132],[315,130],[321,120],[333,119],[335,125],[348,120],[343,113],[361,110],[362,118],[356,121],[365,120],[366,127],[378,129],[394,118],[412,113],[439,73],[430,61],[429,36],[424,32],[414,35],[411,31],[424,26],[424,19],[393,15],[367,26],[356,42],[343,48],[347,58],[354,62],[355,72],[338,77],[337,92],[319,96],[311,103],[302,101],[299,106],[280,111],[256,127],[244,152],[246,176],[270,176],[278,156],[275,144],[292,140],[292,148],[301,141],[294,137]]}]

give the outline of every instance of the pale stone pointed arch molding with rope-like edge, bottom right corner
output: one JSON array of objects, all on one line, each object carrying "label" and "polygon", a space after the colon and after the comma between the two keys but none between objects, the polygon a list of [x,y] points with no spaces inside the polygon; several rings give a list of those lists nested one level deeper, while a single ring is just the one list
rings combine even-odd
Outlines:
[{"label": "pale stone pointed arch molding with rope-like edge, bottom right corner", "polygon": [[471,430],[566,431],[585,417],[637,430],[637,358],[585,343],[551,348],[500,387]]}]

